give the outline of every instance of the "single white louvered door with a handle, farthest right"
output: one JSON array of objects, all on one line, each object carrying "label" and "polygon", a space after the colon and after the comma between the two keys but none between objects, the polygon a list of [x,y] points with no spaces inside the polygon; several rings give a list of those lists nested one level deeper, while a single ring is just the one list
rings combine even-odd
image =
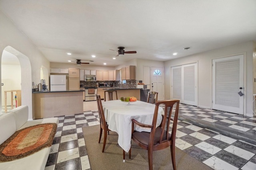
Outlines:
[{"label": "single white louvered door with a handle, farthest right", "polygon": [[[212,60],[212,108],[244,114],[244,55]],[[243,89],[241,90],[244,93]]]}]

